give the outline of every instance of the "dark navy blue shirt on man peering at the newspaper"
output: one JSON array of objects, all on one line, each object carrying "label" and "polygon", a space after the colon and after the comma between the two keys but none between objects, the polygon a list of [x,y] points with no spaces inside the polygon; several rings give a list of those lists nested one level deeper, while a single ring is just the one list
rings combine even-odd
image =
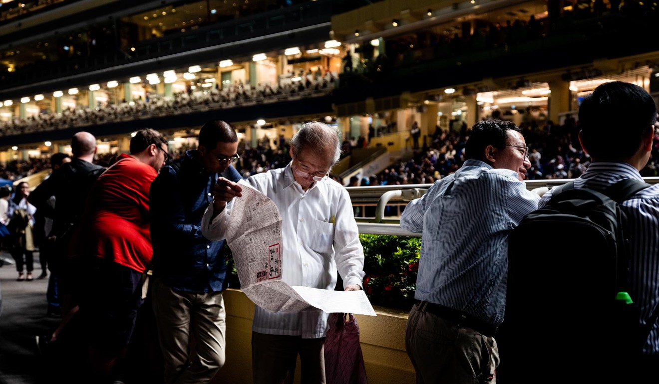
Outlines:
[{"label": "dark navy blue shirt on man peering at the newspaper", "polygon": [[[153,269],[170,288],[186,292],[217,292],[227,288],[224,240],[202,236],[201,223],[213,199],[217,174],[209,173],[194,159],[198,151],[186,151],[177,165],[161,169],[151,185],[149,204]],[[223,177],[241,180],[230,166]]]}]

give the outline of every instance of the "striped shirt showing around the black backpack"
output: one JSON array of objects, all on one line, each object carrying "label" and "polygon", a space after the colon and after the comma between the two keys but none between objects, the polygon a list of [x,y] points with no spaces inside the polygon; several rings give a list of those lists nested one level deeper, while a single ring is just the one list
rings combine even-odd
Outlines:
[{"label": "striped shirt showing around the black backpack", "polygon": [[[575,180],[575,188],[604,190],[622,180],[643,180],[639,171],[627,163],[591,163],[586,172]],[[544,207],[552,196],[547,192],[540,200]],[[631,297],[641,308],[641,323],[645,324],[659,305],[659,184],[654,184],[635,194],[621,204],[627,215],[629,241]],[[643,353],[659,353],[659,327],[655,322],[643,347]]]}]

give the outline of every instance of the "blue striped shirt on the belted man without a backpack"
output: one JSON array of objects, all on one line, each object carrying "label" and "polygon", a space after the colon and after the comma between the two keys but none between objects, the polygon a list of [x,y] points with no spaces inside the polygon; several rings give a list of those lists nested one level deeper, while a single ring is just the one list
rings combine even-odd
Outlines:
[{"label": "blue striped shirt on the belted man without a backpack", "polygon": [[505,311],[508,234],[538,207],[517,172],[475,159],[410,202],[401,227],[422,232],[416,300],[500,325]]}]

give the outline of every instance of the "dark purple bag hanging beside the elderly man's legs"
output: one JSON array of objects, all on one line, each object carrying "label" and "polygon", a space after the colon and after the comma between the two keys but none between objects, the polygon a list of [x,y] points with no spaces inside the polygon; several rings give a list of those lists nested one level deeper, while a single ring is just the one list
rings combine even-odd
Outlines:
[{"label": "dark purple bag hanging beside the elderly man's legs", "polygon": [[[345,315],[348,315],[346,320]],[[327,384],[366,384],[359,326],[353,314],[330,314],[325,339]]]}]

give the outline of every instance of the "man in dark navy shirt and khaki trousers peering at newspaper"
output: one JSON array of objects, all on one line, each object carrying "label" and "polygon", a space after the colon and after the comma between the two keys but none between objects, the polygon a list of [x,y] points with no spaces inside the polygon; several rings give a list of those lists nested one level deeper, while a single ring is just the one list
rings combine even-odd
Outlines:
[{"label": "man in dark navy shirt and khaki trousers peering at newspaper", "polygon": [[231,166],[237,148],[231,125],[209,121],[199,132],[198,149],[163,167],[151,186],[153,307],[168,384],[207,383],[225,361],[224,242],[204,238],[200,225],[218,175],[241,179]]}]

